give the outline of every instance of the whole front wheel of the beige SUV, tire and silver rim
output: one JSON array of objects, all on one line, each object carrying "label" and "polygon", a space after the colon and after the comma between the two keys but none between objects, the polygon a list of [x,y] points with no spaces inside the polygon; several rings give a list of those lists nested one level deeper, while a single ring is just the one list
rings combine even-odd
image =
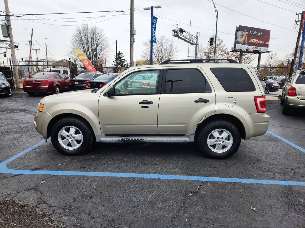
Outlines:
[{"label": "whole front wheel of the beige SUV, tire and silver rim", "polygon": [[81,119],[66,117],[54,124],[51,142],[55,149],[65,155],[79,155],[93,143],[90,126]]}]

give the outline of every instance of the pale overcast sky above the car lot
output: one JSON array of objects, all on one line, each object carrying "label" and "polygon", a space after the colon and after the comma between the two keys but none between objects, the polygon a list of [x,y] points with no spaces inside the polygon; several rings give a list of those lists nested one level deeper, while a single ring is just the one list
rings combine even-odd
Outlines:
[{"label": "pale overcast sky above the car lot", "polygon": [[[297,32],[294,29],[296,12],[302,12],[302,6],[305,5],[303,0],[293,0],[292,3],[287,0],[215,0],[218,10],[218,27],[217,36],[224,40],[224,43],[230,48],[234,43],[235,26],[244,25],[271,30],[271,39],[269,50],[276,52],[279,58],[292,52],[296,44]],[[268,5],[276,5],[278,7]],[[0,0],[2,11],[5,11],[4,2]],[[289,5],[292,4],[292,5]],[[301,5],[297,5],[301,4]],[[213,3],[210,0],[135,0],[135,44],[134,60],[141,58],[143,50],[143,41],[150,38],[150,11],[143,12],[144,7],[151,5],[161,5],[161,9],[154,9],[154,15],[158,17],[156,26],[156,36],[165,35],[168,39],[173,40],[180,48],[177,58],[187,58],[188,44],[172,36],[172,26],[178,24],[185,30],[189,30],[189,22],[192,20],[191,33],[196,35],[200,32],[200,44],[206,46],[209,37],[215,34],[216,16]],[[294,6],[296,5],[296,6]],[[226,8],[229,9],[226,9]],[[303,6],[304,7],[304,6]],[[113,0],[113,1],[16,1],[9,0],[9,10],[11,14],[34,14],[34,13],[59,13],[59,12],[88,12],[88,11],[106,11],[106,10],[124,10],[126,15],[116,16],[118,13],[87,13],[87,14],[63,14],[63,15],[38,15],[42,18],[54,20],[32,20],[40,19],[35,16],[23,16],[18,19],[27,19],[21,21],[12,21],[14,42],[19,43],[19,50],[16,50],[16,57],[28,59],[31,29],[34,29],[33,48],[40,48],[38,59],[45,59],[45,38],[47,38],[48,57],[53,56],[56,60],[68,58],[70,39],[77,24],[95,23],[103,28],[107,33],[110,50],[106,59],[107,66],[112,64],[111,59],[115,55],[115,40],[117,48],[124,53],[126,60],[129,62],[129,22],[130,22],[130,1]],[[230,10],[231,9],[231,10]],[[141,11],[140,11],[141,10]],[[234,12],[234,11],[236,12]],[[245,15],[242,15],[240,13]],[[104,15],[104,16],[103,16]],[[103,16],[103,17],[101,17]],[[82,17],[82,18],[79,18]],[[92,17],[92,18],[89,18]],[[94,18],[99,17],[99,18]],[[161,18],[163,17],[163,18]],[[251,18],[252,17],[252,18]],[[66,18],[66,19],[62,19]],[[69,18],[69,19],[68,19]],[[75,19],[71,19],[75,18]],[[167,19],[165,19],[167,18]],[[256,18],[256,19],[253,19]],[[15,19],[11,17],[11,19]],[[108,19],[108,20],[106,20]],[[259,20],[258,20],[259,19]],[[57,20],[57,21],[55,21]],[[106,21],[102,21],[106,20]],[[63,22],[69,21],[69,22]],[[39,22],[39,23],[38,23]],[[3,20],[2,20],[3,23]],[[46,23],[46,24],[41,24]],[[182,24],[185,23],[185,24]],[[54,25],[48,25],[54,24]],[[272,25],[273,24],[273,25]],[[70,25],[70,26],[63,26]],[[24,27],[23,27],[24,26]],[[197,27],[195,27],[197,26]],[[200,27],[200,28],[199,28]],[[283,28],[281,28],[283,27]],[[298,28],[297,28],[298,29]],[[5,38],[4,38],[5,39]],[[157,40],[158,42],[158,40]],[[190,46],[190,55],[194,54],[194,46]],[[1,53],[4,50],[1,50]],[[10,57],[10,50],[7,51]],[[264,62],[267,54],[262,55]],[[32,54],[36,59],[36,54]],[[3,56],[1,56],[3,60]],[[256,65],[256,64],[253,64]]]}]

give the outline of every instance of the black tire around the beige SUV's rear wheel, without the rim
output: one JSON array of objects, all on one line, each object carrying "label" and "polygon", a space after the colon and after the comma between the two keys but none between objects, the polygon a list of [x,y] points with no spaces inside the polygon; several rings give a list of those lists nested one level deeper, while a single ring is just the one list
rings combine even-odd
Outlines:
[{"label": "black tire around the beige SUV's rear wheel, without the rim", "polygon": [[[231,147],[222,153],[214,152],[210,149],[207,144],[208,136],[213,130],[224,129],[231,133],[233,138],[233,144]],[[213,120],[209,123],[206,123],[203,127],[201,127],[196,136],[197,145],[199,149],[206,154],[208,157],[216,158],[216,159],[224,159],[231,157],[238,150],[240,146],[240,133],[234,124],[228,122],[226,120]]]}]

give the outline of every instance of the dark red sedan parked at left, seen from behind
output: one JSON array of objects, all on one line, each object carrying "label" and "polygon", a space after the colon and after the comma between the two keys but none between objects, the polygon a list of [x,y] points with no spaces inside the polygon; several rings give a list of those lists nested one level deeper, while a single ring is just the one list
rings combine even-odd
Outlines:
[{"label": "dark red sedan parked at left, seen from behind", "polygon": [[23,80],[23,91],[28,95],[35,93],[59,93],[69,89],[69,78],[60,73],[39,72]]}]

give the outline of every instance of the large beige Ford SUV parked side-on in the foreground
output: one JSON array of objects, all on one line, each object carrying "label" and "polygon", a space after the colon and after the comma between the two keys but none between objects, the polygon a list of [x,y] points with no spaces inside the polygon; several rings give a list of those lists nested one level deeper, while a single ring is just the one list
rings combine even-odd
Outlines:
[{"label": "large beige Ford SUV parked side-on in the foreground", "polygon": [[[266,133],[266,97],[248,65],[210,61],[130,67],[101,88],[47,96],[34,126],[66,155],[84,153],[94,141],[144,141],[195,142],[209,157],[229,157],[241,138]],[[128,85],[138,75],[142,83],[153,76],[154,86],[135,91]]]}]

